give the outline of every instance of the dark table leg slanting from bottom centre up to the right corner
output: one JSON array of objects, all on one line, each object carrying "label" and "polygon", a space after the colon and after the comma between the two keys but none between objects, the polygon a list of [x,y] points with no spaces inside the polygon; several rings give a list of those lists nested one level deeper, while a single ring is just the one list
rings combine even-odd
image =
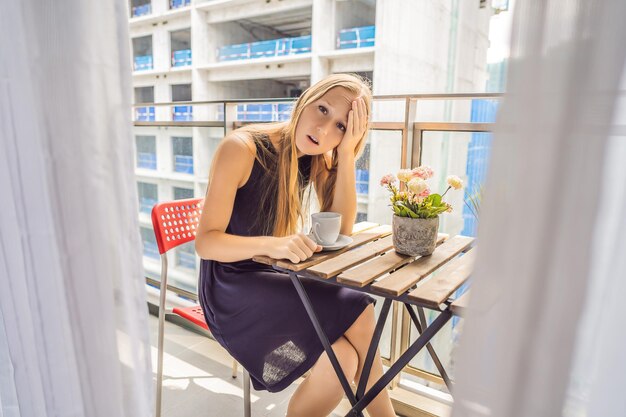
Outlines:
[{"label": "dark table leg slanting from bottom centre up to the right corner", "polygon": [[361,413],[374,398],[385,389],[397,374],[417,355],[417,353],[437,334],[439,330],[452,318],[452,313],[446,309],[428,326],[415,342],[391,365],[391,368],[382,376],[372,388],[370,388],[363,398],[359,398],[356,404],[346,416],[354,415],[354,412]]}]

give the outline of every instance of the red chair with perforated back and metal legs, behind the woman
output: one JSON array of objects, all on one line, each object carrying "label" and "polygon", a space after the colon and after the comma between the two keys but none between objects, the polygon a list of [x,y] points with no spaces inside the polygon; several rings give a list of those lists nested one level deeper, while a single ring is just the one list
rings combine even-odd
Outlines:
[{"label": "red chair with perforated back and metal legs, behind the woman", "polygon": [[[190,198],[157,203],[152,208],[152,226],[161,255],[161,293],[159,297],[159,332],[157,359],[156,417],[161,417],[163,388],[163,329],[165,325],[165,296],[167,293],[167,251],[196,238],[196,230],[204,205],[203,198]],[[197,326],[210,331],[200,306],[174,308],[177,314]],[[233,360],[233,378],[237,376],[237,362]],[[244,416],[250,417],[250,374],[243,369]]]}]

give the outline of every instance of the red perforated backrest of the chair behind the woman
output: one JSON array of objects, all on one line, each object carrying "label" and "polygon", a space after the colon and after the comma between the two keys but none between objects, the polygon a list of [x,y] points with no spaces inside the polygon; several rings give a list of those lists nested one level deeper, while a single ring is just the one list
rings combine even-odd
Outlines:
[{"label": "red perforated backrest of the chair behind the woman", "polygon": [[203,205],[204,198],[164,201],[154,205],[152,226],[159,254],[196,238]]}]

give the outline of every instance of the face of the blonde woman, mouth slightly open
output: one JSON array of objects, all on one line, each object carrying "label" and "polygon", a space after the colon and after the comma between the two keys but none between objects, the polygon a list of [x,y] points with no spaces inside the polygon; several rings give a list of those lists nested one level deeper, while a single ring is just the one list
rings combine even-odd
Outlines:
[{"label": "face of the blonde woman, mouth slightly open", "polygon": [[348,126],[356,97],[342,87],[331,88],[304,108],[296,125],[298,155],[319,155],[337,147]]}]

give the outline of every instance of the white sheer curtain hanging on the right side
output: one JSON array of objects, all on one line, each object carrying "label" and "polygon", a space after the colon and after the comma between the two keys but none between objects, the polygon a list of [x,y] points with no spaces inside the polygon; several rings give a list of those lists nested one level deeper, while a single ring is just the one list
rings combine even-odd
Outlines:
[{"label": "white sheer curtain hanging on the right side", "polygon": [[624,415],[625,17],[516,2],[454,417]]}]

